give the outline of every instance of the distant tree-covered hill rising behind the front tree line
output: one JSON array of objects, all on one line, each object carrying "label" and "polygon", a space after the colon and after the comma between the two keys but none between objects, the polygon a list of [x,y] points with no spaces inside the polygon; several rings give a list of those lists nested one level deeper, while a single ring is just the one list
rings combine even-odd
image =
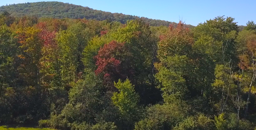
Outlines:
[{"label": "distant tree-covered hill rising behind the front tree line", "polygon": [[[19,3],[0,7],[0,12],[7,11],[11,16],[39,16],[54,18],[73,18],[73,19],[95,19],[119,21],[126,23],[127,20],[144,19],[151,26],[168,26],[170,23],[164,20],[153,20],[146,17],[125,15],[122,13],[111,13],[101,10],[93,10],[89,7],[62,3],[62,2],[36,2],[36,3]],[[174,23],[177,24],[177,23]],[[193,27],[192,25],[188,25]]]}]

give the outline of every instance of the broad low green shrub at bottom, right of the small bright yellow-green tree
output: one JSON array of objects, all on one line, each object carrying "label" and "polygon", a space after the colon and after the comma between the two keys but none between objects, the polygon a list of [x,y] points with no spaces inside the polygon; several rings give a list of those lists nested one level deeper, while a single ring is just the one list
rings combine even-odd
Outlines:
[{"label": "broad low green shrub at bottom, right of the small bright yellow-green tree", "polygon": [[171,130],[188,116],[188,106],[184,102],[157,104],[149,107],[146,115],[135,130]]}]

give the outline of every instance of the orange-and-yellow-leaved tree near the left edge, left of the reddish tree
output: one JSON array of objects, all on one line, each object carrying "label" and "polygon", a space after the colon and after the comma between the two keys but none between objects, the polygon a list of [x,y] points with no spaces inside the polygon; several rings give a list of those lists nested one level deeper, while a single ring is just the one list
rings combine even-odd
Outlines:
[{"label": "orange-and-yellow-leaved tree near the left edge, left of the reddish tree", "polygon": [[21,52],[18,57],[22,66],[19,67],[20,76],[26,84],[40,90],[40,58],[43,42],[39,39],[39,29],[27,27],[16,31]]}]

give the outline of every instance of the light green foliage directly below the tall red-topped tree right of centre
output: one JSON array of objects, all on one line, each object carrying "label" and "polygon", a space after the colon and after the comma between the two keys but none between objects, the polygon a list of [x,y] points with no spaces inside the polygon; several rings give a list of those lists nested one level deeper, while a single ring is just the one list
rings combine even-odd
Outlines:
[{"label": "light green foliage directly below the tall red-topped tree right of centre", "polygon": [[158,73],[155,77],[162,83],[161,90],[164,92],[165,102],[173,102],[185,97],[187,92],[186,81],[182,77],[188,74],[189,61],[187,56],[169,56],[162,64],[155,64]]}]

